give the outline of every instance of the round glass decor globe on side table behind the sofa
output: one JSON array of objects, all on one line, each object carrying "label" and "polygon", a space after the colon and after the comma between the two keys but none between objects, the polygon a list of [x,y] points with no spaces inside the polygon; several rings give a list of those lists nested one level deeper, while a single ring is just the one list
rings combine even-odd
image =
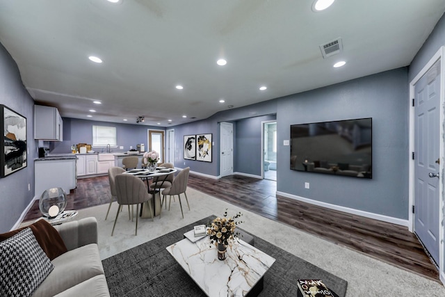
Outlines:
[{"label": "round glass decor globe on side table behind the sofa", "polygon": [[63,188],[49,188],[40,196],[39,209],[43,216],[55,218],[67,207],[67,194]]}]

